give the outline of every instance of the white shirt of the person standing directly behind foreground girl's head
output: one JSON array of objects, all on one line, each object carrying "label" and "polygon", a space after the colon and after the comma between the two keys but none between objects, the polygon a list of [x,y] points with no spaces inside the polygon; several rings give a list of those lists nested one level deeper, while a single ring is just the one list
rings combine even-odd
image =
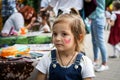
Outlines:
[{"label": "white shirt of the person standing directly behind foreground girl's head", "polygon": [[70,8],[81,10],[83,8],[83,0],[51,0],[50,6],[61,9],[64,12],[69,11]]}]

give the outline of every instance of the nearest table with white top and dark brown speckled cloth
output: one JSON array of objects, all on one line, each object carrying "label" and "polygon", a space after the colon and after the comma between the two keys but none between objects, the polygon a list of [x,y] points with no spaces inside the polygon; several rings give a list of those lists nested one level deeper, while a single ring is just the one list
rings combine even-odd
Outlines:
[{"label": "nearest table with white top and dark brown speckled cloth", "polygon": [[[26,44],[14,46],[24,45]],[[38,72],[35,66],[43,55],[49,53],[53,44],[27,44],[27,46],[30,52],[21,57],[0,57],[0,80],[35,80]]]}]

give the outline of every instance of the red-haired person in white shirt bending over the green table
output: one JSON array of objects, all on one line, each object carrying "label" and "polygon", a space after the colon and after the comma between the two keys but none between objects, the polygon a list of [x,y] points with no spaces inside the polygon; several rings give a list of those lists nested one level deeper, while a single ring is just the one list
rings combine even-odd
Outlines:
[{"label": "red-haired person in white shirt bending over the green table", "polygon": [[11,33],[11,29],[13,29],[15,33],[18,33],[20,29],[23,28],[30,29],[35,20],[36,12],[34,8],[26,5],[22,7],[19,12],[12,14],[7,19],[1,31],[1,35],[9,36]]}]

